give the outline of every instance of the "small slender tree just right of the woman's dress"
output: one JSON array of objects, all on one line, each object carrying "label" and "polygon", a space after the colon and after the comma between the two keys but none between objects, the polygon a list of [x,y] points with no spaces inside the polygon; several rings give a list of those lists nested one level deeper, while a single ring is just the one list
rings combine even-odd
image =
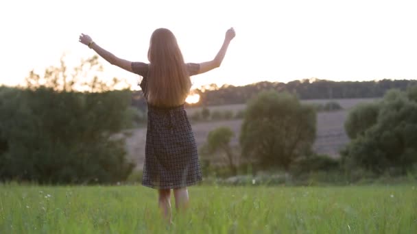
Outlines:
[{"label": "small slender tree just right of the woman's dress", "polygon": [[234,162],[234,155],[230,147],[230,140],[235,137],[233,132],[228,127],[218,127],[210,131],[207,135],[206,149],[208,153],[215,153],[216,151],[224,151],[228,160],[228,166],[233,174],[237,174],[237,168]]}]

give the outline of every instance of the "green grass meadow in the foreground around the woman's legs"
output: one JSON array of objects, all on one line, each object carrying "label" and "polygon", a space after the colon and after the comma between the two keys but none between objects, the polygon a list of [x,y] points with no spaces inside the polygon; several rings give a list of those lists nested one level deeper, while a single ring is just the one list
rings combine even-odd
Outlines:
[{"label": "green grass meadow in the foreground around the woman's legs", "polygon": [[[189,189],[190,209],[160,220],[141,185],[0,185],[0,233],[417,233],[417,186]],[[174,205],[174,201],[173,201]]]}]

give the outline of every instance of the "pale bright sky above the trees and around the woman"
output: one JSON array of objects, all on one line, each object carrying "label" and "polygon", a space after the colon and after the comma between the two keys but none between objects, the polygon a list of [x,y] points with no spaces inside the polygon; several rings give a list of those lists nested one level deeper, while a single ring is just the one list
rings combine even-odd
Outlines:
[{"label": "pale bright sky above the trees and around the woman", "polygon": [[[244,85],[294,79],[417,78],[416,1],[86,1],[0,2],[0,83],[29,70],[94,55],[81,33],[126,60],[147,62],[152,31],[176,35],[186,62],[211,60],[229,27],[236,38],[220,68],[193,77]],[[102,60],[108,77],[139,76]]]}]

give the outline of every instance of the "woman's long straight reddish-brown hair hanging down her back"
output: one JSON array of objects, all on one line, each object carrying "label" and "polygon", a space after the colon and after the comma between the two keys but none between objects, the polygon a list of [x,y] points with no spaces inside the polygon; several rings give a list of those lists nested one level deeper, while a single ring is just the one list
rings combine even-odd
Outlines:
[{"label": "woman's long straight reddish-brown hair hanging down her back", "polygon": [[147,101],[157,106],[178,106],[187,98],[191,80],[174,34],[168,29],[156,29],[151,36],[149,51]]}]

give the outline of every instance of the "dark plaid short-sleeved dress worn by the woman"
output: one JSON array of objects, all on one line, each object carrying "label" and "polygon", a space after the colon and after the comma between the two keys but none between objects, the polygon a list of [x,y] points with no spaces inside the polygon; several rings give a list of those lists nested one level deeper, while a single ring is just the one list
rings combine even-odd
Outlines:
[{"label": "dark plaid short-sleeved dress worn by the woman", "polygon": [[[189,75],[196,75],[199,64],[187,64]],[[148,64],[132,62],[134,73],[143,77],[146,94]],[[142,185],[155,189],[176,189],[202,180],[197,144],[184,105],[155,107],[148,104],[145,164]]]}]

